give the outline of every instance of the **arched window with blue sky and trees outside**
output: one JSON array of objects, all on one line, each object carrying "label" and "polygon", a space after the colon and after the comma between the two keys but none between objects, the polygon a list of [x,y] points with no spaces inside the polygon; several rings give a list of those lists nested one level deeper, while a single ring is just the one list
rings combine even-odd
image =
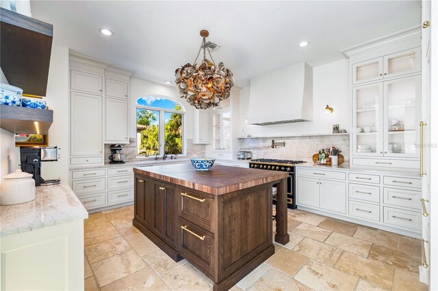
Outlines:
[{"label": "arched window with blue sky and trees outside", "polygon": [[136,113],[138,156],[183,154],[183,105],[164,96],[142,96]]}]

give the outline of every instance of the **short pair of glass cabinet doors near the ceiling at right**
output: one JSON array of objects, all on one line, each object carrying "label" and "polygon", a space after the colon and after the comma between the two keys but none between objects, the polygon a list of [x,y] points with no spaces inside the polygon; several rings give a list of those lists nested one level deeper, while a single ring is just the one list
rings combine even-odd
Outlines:
[{"label": "short pair of glass cabinet doors near the ceiling at right", "polygon": [[421,48],[411,48],[352,64],[352,84],[389,79],[420,70]]}]

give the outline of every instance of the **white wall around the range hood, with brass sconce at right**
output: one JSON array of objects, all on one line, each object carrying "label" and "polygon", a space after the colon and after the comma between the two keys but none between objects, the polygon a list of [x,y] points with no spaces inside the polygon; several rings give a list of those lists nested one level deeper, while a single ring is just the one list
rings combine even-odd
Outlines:
[{"label": "white wall around the range hood, with brass sconce at right", "polygon": [[[258,126],[245,122],[248,115],[250,87],[244,87],[240,92],[240,127],[245,130],[245,135],[250,134],[253,137],[332,133],[333,124],[339,124],[339,128],[350,132],[349,88],[348,60],[343,59],[314,67],[313,121]],[[333,113],[324,113],[326,105],[333,107]]]}]

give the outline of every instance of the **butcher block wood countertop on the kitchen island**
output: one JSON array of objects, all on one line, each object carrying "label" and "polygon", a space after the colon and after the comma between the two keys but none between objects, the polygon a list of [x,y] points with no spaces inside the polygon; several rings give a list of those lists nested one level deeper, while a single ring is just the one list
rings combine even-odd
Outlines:
[{"label": "butcher block wood countertop on the kitchen island", "polygon": [[212,195],[222,195],[237,190],[287,178],[281,171],[248,169],[213,165],[209,171],[196,171],[191,163],[158,165],[134,168],[136,174],[185,186]]}]

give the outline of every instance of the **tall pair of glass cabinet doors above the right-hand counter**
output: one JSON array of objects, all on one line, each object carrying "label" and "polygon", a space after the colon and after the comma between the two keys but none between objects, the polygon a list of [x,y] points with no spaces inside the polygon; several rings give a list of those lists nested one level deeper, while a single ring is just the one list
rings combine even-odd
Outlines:
[{"label": "tall pair of glass cabinet doors above the right-hand counter", "polygon": [[420,156],[421,77],[352,87],[353,155]]}]

